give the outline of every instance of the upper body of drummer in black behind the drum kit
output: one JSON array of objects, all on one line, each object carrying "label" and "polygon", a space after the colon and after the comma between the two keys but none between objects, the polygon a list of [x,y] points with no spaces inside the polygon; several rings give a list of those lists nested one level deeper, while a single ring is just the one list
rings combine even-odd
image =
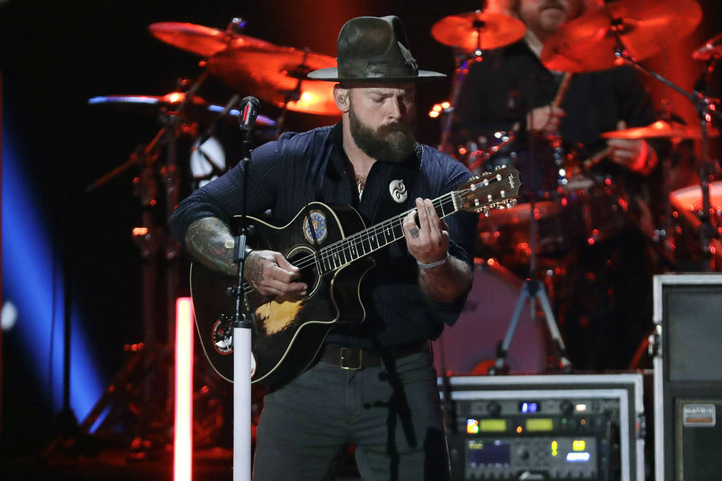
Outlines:
[{"label": "upper body of drummer in black behind the drum kit", "polygon": [[[605,147],[600,133],[652,123],[651,97],[630,67],[577,74],[560,106],[552,105],[562,73],[539,60],[544,42],[600,1],[508,0],[508,13],[521,19],[526,33],[471,64],[456,103],[462,127],[474,137],[521,127],[560,133],[566,144],[583,144],[591,156]],[[644,174],[656,164],[656,151],[642,139],[609,139],[606,146],[609,159],[625,169]]]}]

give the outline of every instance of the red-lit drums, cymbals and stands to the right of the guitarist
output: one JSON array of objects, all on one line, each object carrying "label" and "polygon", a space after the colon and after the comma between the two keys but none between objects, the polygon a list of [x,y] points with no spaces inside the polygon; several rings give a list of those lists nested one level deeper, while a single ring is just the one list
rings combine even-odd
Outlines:
[{"label": "red-lit drums, cymbals and stands to the right of the guitarist", "polygon": [[[670,112],[666,112],[664,120],[657,120],[643,127],[619,128],[601,134],[601,138],[661,139],[671,144],[670,159],[677,154],[677,146],[701,142],[700,157],[695,156],[694,149],[691,149],[692,162],[672,165],[670,159],[659,159],[658,169],[662,176],[660,183],[664,185],[654,187],[664,190],[663,200],[659,202],[661,205],[648,206],[651,210],[660,212],[655,211],[656,216],[653,216],[658,225],[653,225],[653,229],[648,229],[644,234],[654,252],[663,259],[658,265],[665,269],[722,271],[722,180],[718,180],[721,172],[716,160],[710,159],[708,146],[710,138],[719,136],[718,129],[712,125],[715,118],[720,118],[720,101],[708,97],[708,92],[699,89],[697,85],[695,92],[686,92],[639,63],[660,53],[679,37],[692,32],[701,19],[702,10],[694,0],[618,0],[603,5],[600,2],[598,8],[568,22],[544,43],[541,62],[550,71],[564,73],[554,99],[557,106],[572,76],[614,69],[622,65],[634,66],[681,93],[695,105],[695,110],[700,113],[700,123],[697,125],[677,123],[671,120]],[[525,147],[517,145],[518,135],[497,132],[470,140],[463,135],[462,138],[453,138],[451,128],[453,105],[458,105],[458,93],[468,72],[469,63],[484,61],[482,54],[486,55],[488,50],[510,45],[524,35],[524,25],[492,2],[488,2],[484,11],[445,17],[432,27],[432,36],[438,42],[455,48],[456,56],[456,75],[450,94],[451,107],[444,110],[447,117],[442,128],[440,149],[464,162],[472,172],[486,170],[498,162],[513,162],[518,165],[522,180],[524,179],[524,163],[529,162],[529,156],[521,153]],[[692,53],[695,60],[706,62],[703,78],[706,76],[707,79],[721,57],[722,35],[713,37]],[[549,138],[549,144],[554,145],[554,142],[558,143],[559,140],[558,136]],[[578,259],[578,256],[570,255],[575,246],[583,245],[587,248],[603,242],[619,234],[622,226],[630,223],[629,219],[625,219],[624,207],[625,203],[631,200],[630,195],[625,192],[624,183],[617,184],[612,176],[596,175],[591,170],[591,167],[595,167],[607,154],[609,151],[601,151],[584,159],[574,151],[562,152],[551,159],[551,162],[544,162],[547,167],[540,167],[544,172],[536,173],[541,180],[538,182],[541,189],[529,192],[526,199],[521,198],[516,208],[495,211],[479,220],[476,254],[487,259],[485,262],[477,262],[476,275],[479,280],[490,286],[491,291],[507,294],[510,292],[508,279],[511,274],[512,277],[527,278],[526,282],[531,280],[532,284],[525,290],[526,286],[521,285],[521,281],[513,283],[516,288],[521,288],[522,294],[518,299],[517,309],[512,314],[506,336],[503,342],[500,341],[496,346],[495,362],[490,361],[490,353],[494,352],[494,349],[472,332],[476,325],[474,321],[488,314],[488,306],[477,302],[485,299],[484,294],[472,293],[469,299],[474,299],[467,303],[464,313],[451,332],[455,338],[467,340],[466,344],[469,345],[464,349],[466,354],[463,359],[454,354],[440,356],[445,357],[446,362],[437,361],[438,369],[456,373],[473,370],[479,374],[482,371],[495,374],[500,369],[541,373],[550,366],[553,366],[552,369],[568,367],[564,365],[567,361],[565,346],[554,332],[557,328],[553,314],[544,306],[548,304],[544,287],[553,291],[558,283],[570,281],[563,276],[568,268],[573,268],[569,263]],[[552,154],[547,156],[554,156],[554,149]],[[691,172],[677,172],[682,169]],[[670,177],[696,178],[697,185],[674,185],[669,181]],[[573,206],[580,207],[583,215],[575,216],[570,210]],[[579,219],[582,221],[578,222]],[[640,230],[643,229],[640,227]],[[624,239],[620,242],[624,242]],[[500,272],[503,272],[503,275],[499,275]],[[651,276],[651,273],[649,275]],[[535,281],[537,277],[544,281]],[[490,279],[494,278],[503,278],[506,281],[490,283]],[[475,292],[476,286],[475,283]],[[520,306],[525,299],[535,297],[540,301],[547,320],[547,335],[551,335],[556,343],[559,363],[544,365],[539,361],[539,353],[536,353],[531,356],[536,360],[536,365],[530,369],[530,357],[527,356],[524,346],[529,344],[526,337],[539,337],[539,326],[523,328],[520,333],[524,336],[521,342],[510,345],[510,341],[517,327]],[[498,300],[497,297],[495,301]],[[474,319],[465,322],[466,318],[472,317]],[[454,342],[448,338],[446,332],[444,336],[447,341]],[[469,343],[470,338],[474,339],[474,342]],[[444,338],[441,339],[443,340]],[[450,351],[449,346],[446,347],[446,351]],[[443,346],[438,345],[438,348],[443,353]],[[472,355],[470,350],[477,356]],[[477,369],[474,369],[472,359],[484,362],[476,365]]]}]

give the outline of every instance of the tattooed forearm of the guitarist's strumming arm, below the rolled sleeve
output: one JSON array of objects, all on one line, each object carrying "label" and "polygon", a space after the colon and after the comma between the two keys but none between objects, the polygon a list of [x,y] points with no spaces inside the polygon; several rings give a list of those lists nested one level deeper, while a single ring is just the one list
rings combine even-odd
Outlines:
[{"label": "tattooed forearm of the guitarist's strumming arm, below the rolled sleeve", "polygon": [[204,217],[194,221],[186,231],[186,248],[209,268],[232,274],[238,269],[233,262],[233,237],[220,219]]}]

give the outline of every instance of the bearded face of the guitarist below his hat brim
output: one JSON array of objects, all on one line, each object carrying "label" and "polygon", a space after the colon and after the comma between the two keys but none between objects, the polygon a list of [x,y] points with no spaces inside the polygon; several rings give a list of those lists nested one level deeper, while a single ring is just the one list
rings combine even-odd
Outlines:
[{"label": "bearded face of the guitarist below his hat brim", "polygon": [[349,128],[367,156],[400,162],[414,151],[414,84],[352,87]]}]

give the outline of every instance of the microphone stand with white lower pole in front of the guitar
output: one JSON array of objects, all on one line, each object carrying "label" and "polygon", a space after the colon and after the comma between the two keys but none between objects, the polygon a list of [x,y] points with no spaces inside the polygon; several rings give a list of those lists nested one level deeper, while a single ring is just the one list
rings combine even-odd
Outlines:
[{"label": "microphone stand with white lower pole in front of the guitar", "polygon": [[[243,121],[243,120],[242,120]],[[233,481],[251,480],[251,330],[253,313],[242,313],[243,267],[248,255],[246,238],[252,226],[246,226],[248,200],[248,169],[251,166],[251,129],[243,128],[243,198],[240,209],[240,229],[235,237],[233,260],[238,262],[238,284],[235,292],[233,317]]]}]

